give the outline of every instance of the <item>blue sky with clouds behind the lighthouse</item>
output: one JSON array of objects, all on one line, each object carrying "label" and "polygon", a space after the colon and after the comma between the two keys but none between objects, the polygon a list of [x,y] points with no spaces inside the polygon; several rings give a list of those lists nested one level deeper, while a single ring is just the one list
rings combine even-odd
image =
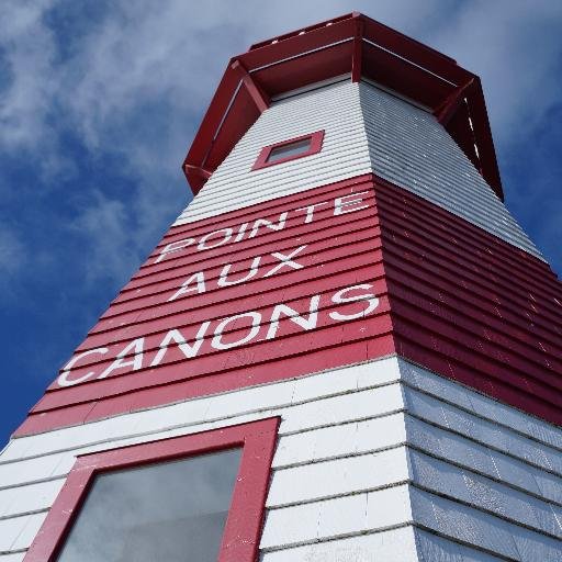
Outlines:
[{"label": "blue sky with clouds behind the lighthouse", "polygon": [[231,56],[352,10],[483,80],[509,210],[562,272],[562,3],[8,0],[0,19],[0,446],[190,200]]}]

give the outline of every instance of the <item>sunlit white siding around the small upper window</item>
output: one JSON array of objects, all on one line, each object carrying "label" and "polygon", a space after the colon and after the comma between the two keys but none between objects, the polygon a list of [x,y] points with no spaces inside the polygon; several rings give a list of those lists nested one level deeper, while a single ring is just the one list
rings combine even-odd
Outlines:
[{"label": "sunlit white siding around the small upper window", "polygon": [[[322,151],[251,171],[265,146],[324,130]],[[371,171],[359,86],[342,82],[273,103],[175,224],[262,203]]]}]

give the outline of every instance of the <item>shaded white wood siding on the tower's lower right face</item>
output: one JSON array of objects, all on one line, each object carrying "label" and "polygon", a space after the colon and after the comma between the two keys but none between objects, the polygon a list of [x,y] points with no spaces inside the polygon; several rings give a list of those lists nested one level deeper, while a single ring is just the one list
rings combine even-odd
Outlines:
[{"label": "shaded white wood siding on the tower's lower right face", "polygon": [[[418,528],[487,555],[560,560],[562,430],[400,362]],[[465,558],[459,546],[436,548]]]}]

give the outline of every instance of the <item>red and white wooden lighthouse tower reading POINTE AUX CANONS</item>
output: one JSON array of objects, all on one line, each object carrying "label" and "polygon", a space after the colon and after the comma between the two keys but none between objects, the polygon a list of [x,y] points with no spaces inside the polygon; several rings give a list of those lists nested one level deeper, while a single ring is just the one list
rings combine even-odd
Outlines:
[{"label": "red and white wooden lighthouse tower reading POINTE AUX CANONS", "polygon": [[561,284],[479,78],[336,18],[234,57],[183,169],[0,457],[0,562],[562,560]]}]

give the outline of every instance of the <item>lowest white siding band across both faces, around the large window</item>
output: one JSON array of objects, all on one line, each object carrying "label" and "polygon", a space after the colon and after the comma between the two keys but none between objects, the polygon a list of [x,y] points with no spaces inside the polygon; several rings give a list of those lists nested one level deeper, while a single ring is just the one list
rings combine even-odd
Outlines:
[{"label": "lowest white siding band across both faces, around the large window", "polygon": [[10,441],[0,562],[77,454],[274,415],[263,562],[560,560],[562,430],[389,358]]}]

